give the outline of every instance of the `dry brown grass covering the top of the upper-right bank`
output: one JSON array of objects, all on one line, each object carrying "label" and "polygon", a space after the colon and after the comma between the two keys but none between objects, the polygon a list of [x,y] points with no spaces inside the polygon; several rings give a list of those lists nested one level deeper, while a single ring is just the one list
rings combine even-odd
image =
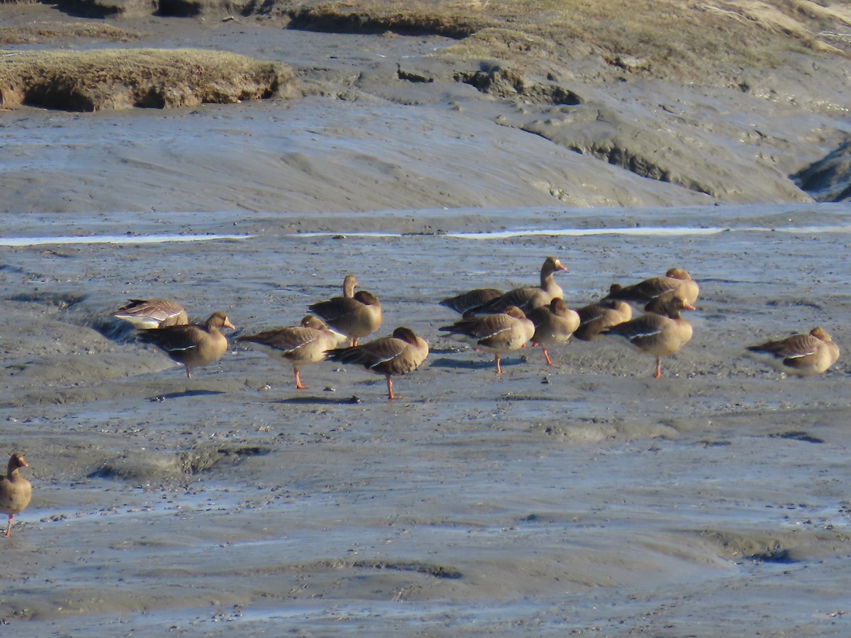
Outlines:
[{"label": "dry brown grass covering the top of the upper-right bank", "polygon": [[703,77],[707,68],[775,66],[794,50],[851,52],[851,7],[808,0],[351,0],[288,3],[296,26],[473,37],[444,54],[603,56],[626,71]]}]

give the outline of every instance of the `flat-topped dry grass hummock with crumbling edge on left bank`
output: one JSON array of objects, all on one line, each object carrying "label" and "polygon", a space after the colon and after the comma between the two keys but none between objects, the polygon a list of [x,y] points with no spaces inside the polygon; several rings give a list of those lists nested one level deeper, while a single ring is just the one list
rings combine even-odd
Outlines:
[{"label": "flat-topped dry grass hummock with crumbling edge on left bank", "polygon": [[67,111],[195,106],[270,97],[287,67],[201,49],[0,51],[0,105]]}]

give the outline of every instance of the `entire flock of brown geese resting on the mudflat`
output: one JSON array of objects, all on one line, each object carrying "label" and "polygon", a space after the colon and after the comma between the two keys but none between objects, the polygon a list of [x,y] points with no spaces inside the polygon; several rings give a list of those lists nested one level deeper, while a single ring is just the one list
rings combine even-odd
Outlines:
[{"label": "entire flock of brown geese resting on the mudflat", "polygon": [[[547,349],[572,336],[583,341],[621,339],[654,357],[656,379],[662,376],[662,359],[692,338],[692,326],[681,315],[695,310],[700,288],[687,271],[671,268],[664,276],[629,286],[613,284],[603,299],[574,310],[564,303],[563,290],[553,278],[564,270],[558,259],[547,257],[537,286],[508,292],[478,288],[443,299],[440,305],[461,318],[438,330],[492,352],[498,374],[502,374],[500,357],[530,342],[540,346],[546,364],[553,365]],[[357,279],[348,275],[342,296],[308,305],[311,314],[299,325],[240,335],[236,340],[291,364],[299,390],[308,387],[301,381],[300,368],[328,359],[385,375],[387,398],[396,399],[392,378],[420,367],[429,354],[428,343],[405,327],[396,328],[391,336],[360,343],[380,329],[382,314],[373,293],[356,293],[355,288]],[[643,314],[633,316],[631,304],[643,306]],[[193,368],[220,359],[228,348],[221,330],[236,329],[223,312],[214,312],[203,324],[191,324],[186,310],[173,299],[131,299],[111,316],[129,322],[140,341],[182,364],[187,378]],[[839,347],[817,326],[808,334],[751,345],[747,353],[780,372],[804,377],[823,373],[837,362]],[[30,482],[20,475],[20,469],[28,466],[20,453],[13,453],[6,476],[0,476],[0,512],[9,516],[7,537],[14,516],[30,504]]]}]

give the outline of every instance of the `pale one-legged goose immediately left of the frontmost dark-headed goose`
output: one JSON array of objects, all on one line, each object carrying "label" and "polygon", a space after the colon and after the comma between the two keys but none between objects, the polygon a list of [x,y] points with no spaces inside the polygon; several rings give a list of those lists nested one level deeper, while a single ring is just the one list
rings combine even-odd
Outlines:
[{"label": "pale one-legged goose immediately left of the frontmost dark-headed goose", "polygon": [[337,333],[328,329],[321,319],[308,315],[299,326],[243,335],[237,337],[237,341],[251,344],[273,359],[292,363],[296,389],[306,390],[307,386],[301,383],[299,367],[322,361],[325,351],[337,345]]}]

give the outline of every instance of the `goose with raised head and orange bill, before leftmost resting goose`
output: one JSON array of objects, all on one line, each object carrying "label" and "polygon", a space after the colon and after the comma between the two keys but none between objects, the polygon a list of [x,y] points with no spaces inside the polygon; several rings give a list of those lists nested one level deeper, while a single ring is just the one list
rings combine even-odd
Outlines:
[{"label": "goose with raised head and orange bill, before leftmost resting goose", "polygon": [[140,330],[137,335],[140,340],[156,345],[174,361],[182,363],[186,367],[186,377],[191,379],[193,367],[205,366],[226,353],[227,339],[219,328],[234,329],[224,312],[214,312],[203,325]]}]

